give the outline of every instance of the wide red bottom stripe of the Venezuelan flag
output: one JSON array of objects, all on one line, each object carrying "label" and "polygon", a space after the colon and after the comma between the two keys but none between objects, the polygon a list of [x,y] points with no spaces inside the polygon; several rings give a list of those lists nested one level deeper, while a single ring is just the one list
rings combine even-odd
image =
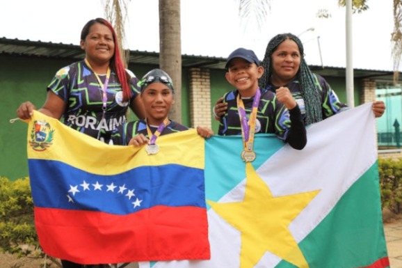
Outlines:
[{"label": "wide red bottom stripe of the Venezuelan flag", "polygon": [[210,258],[207,211],[156,206],[129,215],[35,207],[40,246],[81,264]]}]

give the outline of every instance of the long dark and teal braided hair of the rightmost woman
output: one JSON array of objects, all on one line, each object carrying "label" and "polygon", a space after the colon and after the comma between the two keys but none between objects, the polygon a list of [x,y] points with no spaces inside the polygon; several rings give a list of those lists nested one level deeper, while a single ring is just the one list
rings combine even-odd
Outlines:
[{"label": "long dark and teal braided hair of the rightmost woman", "polygon": [[322,104],[319,96],[318,89],[314,83],[314,77],[312,72],[309,70],[309,67],[304,58],[304,48],[300,39],[297,36],[294,36],[291,33],[281,33],[277,36],[274,36],[266,47],[266,52],[264,56],[264,60],[262,61],[262,66],[265,69],[264,74],[259,79],[259,87],[266,88],[269,84],[271,84],[271,77],[273,73],[271,58],[273,52],[278,49],[278,46],[284,42],[284,40],[293,40],[298,45],[298,49],[300,52],[300,67],[296,74],[296,78],[300,81],[300,92],[302,94],[303,100],[305,102],[305,110],[306,110],[306,125],[319,122],[323,120],[322,113]]}]

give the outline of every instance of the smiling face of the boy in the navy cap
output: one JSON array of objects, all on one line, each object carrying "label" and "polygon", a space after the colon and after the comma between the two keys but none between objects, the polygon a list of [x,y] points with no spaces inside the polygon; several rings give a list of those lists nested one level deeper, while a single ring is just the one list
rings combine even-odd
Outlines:
[{"label": "smiling face of the boy in the navy cap", "polygon": [[249,63],[243,58],[233,58],[225,74],[227,81],[232,84],[241,97],[252,97],[258,88],[258,79],[262,77],[264,68],[255,63]]}]

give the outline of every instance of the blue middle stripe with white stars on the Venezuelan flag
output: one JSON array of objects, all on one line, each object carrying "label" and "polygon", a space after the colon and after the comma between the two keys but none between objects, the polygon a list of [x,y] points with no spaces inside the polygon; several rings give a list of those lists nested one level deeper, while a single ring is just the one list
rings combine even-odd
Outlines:
[{"label": "blue middle stripe with white stars on the Venezuelan flag", "polygon": [[199,168],[168,164],[96,175],[60,161],[29,159],[29,173],[36,207],[111,214],[155,205],[205,207],[204,171]]}]

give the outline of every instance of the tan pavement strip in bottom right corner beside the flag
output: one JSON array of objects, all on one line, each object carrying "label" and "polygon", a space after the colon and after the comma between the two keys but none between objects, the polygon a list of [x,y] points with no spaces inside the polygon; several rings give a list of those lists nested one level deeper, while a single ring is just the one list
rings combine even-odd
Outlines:
[{"label": "tan pavement strip in bottom right corner beside the flag", "polygon": [[391,268],[402,268],[402,218],[384,223],[384,230],[389,265]]}]

